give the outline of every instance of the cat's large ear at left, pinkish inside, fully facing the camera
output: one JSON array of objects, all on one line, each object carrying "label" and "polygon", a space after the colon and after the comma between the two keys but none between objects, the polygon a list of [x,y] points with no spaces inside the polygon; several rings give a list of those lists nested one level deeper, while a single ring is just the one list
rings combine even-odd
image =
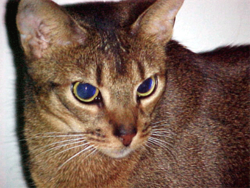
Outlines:
[{"label": "cat's large ear at left, pinkish inside, fully facing the camera", "polygon": [[84,43],[87,32],[50,0],[21,0],[17,27],[27,56],[41,58],[52,46]]}]

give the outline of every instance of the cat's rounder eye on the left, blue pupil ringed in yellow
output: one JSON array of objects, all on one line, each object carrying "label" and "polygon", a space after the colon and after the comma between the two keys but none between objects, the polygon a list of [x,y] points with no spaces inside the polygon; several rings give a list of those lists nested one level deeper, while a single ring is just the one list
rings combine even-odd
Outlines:
[{"label": "cat's rounder eye on the left, blue pupil ringed in yellow", "polygon": [[99,94],[99,89],[88,83],[76,82],[72,90],[78,100],[86,103],[93,102]]}]

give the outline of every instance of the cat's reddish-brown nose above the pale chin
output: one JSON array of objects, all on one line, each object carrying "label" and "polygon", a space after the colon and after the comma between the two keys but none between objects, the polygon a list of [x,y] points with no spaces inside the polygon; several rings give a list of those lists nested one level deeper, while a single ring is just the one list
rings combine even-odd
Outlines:
[{"label": "cat's reddish-brown nose above the pale chin", "polygon": [[114,131],[114,135],[120,138],[122,144],[126,147],[131,144],[136,133],[136,127],[126,127],[124,125],[118,126]]}]

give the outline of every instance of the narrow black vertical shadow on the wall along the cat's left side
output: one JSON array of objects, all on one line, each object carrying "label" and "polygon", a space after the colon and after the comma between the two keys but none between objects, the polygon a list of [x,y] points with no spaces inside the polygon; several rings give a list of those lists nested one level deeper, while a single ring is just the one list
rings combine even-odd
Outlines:
[{"label": "narrow black vertical shadow on the wall along the cat's left side", "polygon": [[6,4],[6,30],[8,35],[9,46],[13,54],[13,64],[16,68],[16,134],[19,140],[19,151],[22,156],[22,170],[26,180],[27,187],[35,187],[31,179],[28,164],[28,148],[24,138],[24,87],[25,87],[25,72],[24,54],[19,42],[19,34],[16,27],[16,14],[18,0],[9,0]]}]

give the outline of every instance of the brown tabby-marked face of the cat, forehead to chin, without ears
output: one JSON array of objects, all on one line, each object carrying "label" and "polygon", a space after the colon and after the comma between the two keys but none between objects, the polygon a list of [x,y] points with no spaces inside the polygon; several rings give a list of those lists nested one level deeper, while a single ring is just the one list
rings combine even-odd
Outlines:
[{"label": "brown tabby-marked face of the cat, forehead to chin, without ears", "polygon": [[127,47],[102,40],[108,39],[96,35],[86,46],[57,48],[32,64],[39,65],[31,70],[43,90],[36,97],[48,109],[47,118],[56,113],[58,119],[48,125],[55,132],[81,133],[98,151],[124,157],[151,134],[165,88],[164,49],[153,45],[147,50],[133,37],[126,38]]}]

